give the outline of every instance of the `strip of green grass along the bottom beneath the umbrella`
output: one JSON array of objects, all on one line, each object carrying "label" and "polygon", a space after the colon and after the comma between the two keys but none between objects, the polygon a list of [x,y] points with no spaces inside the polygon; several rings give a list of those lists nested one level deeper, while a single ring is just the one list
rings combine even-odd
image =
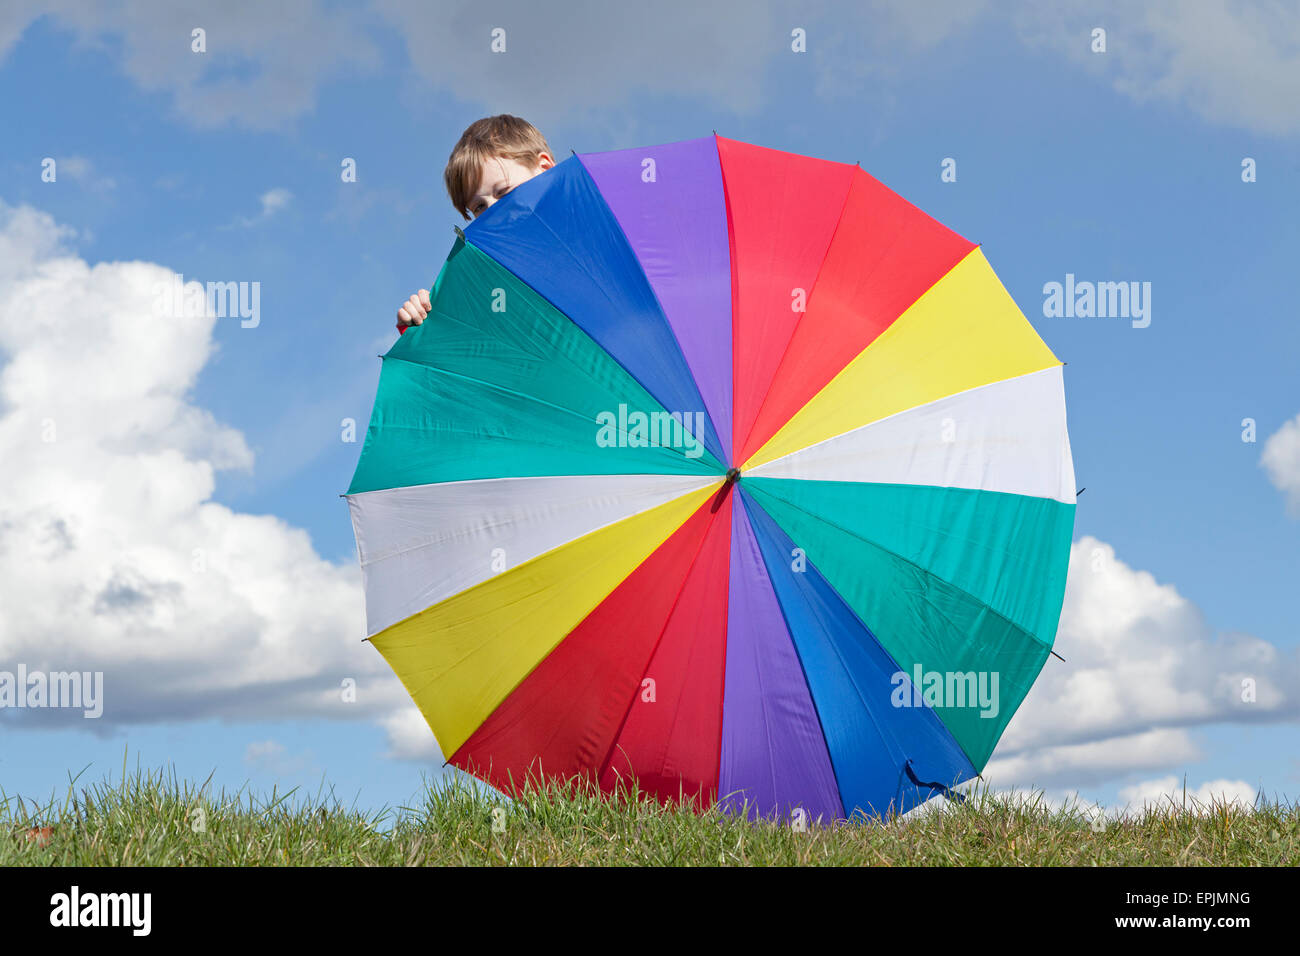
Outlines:
[{"label": "strip of green grass along the bottom beneath the umbrella", "polygon": [[[905,819],[749,823],[716,809],[664,808],[549,786],[507,801],[467,778],[416,806],[367,816],[295,791],[211,795],[136,769],[122,783],[69,786],[36,806],[0,791],[0,866],[1294,866],[1300,805],[1188,800],[1119,819],[1046,806],[1041,793],[975,791]],[[202,826],[200,826],[202,823]],[[46,830],[48,827],[48,831]]]}]

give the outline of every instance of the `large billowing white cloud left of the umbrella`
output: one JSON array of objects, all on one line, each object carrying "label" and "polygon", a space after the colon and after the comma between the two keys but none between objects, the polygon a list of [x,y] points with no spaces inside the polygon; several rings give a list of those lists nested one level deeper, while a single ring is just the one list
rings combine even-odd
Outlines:
[{"label": "large billowing white cloud left of the umbrella", "polygon": [[[218,319],[159,319],[169,269],[92,265],[69,238],[0,203],[0,659],[104,671],[104,715],[81,730],[407,705],[361,643],[358,568],[273,515],[212,501],[217,472],[254,464],[243,436],[190,401]],[[94,302],[94,317],[69,321],[69,302]]]}]

